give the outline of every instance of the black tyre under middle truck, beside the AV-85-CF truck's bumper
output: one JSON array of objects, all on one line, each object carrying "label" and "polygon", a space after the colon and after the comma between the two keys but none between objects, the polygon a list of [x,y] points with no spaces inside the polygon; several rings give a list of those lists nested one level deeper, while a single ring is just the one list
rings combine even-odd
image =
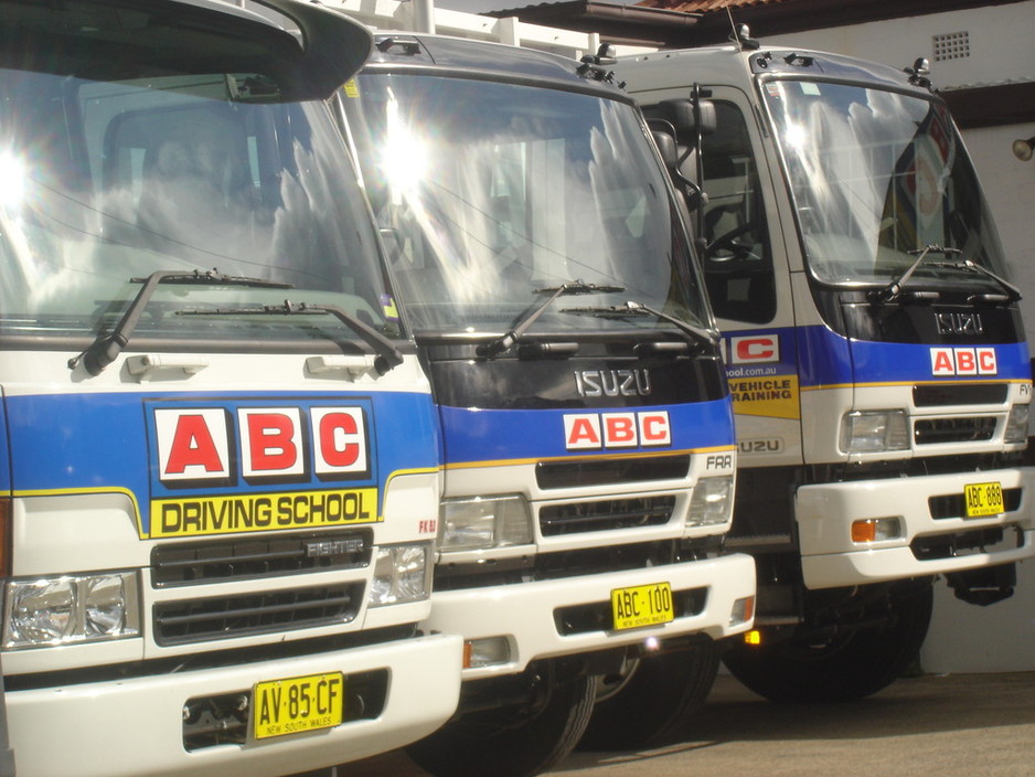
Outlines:
[{"label": "black tyre under middle truck, beside the AV-85-CF truck's bumper", "polygon": [[529,703],[466,713],[409,745],[407,755],[435,777],[531,777],[556,766],[586,730],[594,679],[562,677],[551,661],[532,673]]}]

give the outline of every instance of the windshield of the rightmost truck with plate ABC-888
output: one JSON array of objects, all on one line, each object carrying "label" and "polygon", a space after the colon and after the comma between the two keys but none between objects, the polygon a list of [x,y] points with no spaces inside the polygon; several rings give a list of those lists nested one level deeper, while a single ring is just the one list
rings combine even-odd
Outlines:
[{"label": "windshield of the rightmost truck with plate ABC-888", "polygon": [[796,81],[767,82],[762,94],[819,279],[887,283],[927,246],[938,251],[914,280],[960,281],[947,265],[963,260],[1005,275],[988,205],[941,103]]}]

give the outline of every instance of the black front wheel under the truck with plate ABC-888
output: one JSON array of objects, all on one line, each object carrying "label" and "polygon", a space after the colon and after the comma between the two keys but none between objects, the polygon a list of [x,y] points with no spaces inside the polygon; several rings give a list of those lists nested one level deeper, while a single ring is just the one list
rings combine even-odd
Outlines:
[{"label": "black front wheel under the truck with plate ABC-888", "polygon": [[724,661],[737,680],[770,701],[854,701],[893,683],[916,659],[932,602],[930,585],[899,585],[881,600],[890,618],[877,626],[826,640],[792,637],[768,646],[737,645]]}]

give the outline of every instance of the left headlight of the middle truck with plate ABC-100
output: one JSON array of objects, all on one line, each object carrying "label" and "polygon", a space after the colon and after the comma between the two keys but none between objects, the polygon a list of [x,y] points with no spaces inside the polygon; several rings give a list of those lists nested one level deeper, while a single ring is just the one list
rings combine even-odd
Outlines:
[{"label": "left headlight of the middle truck with plate ABC-100", "polygon": [[441,551],[479,551],[532,542],[532,514],[524,498],[476,497],[442,501]]}]

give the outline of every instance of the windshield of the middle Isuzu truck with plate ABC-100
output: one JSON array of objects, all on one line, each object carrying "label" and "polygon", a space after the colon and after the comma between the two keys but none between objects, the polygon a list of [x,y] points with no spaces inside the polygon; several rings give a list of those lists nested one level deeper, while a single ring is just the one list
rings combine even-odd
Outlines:
[{"label": "windshield of the middle Isuzu truck with plate ABC-100", "polygon": [[[529,336],[709,324],[630,105],[427,75],[358,86],[350,125],[415,329],[503,332],[551,295]],[[610,310],[630,301],[654,312]]]}]

